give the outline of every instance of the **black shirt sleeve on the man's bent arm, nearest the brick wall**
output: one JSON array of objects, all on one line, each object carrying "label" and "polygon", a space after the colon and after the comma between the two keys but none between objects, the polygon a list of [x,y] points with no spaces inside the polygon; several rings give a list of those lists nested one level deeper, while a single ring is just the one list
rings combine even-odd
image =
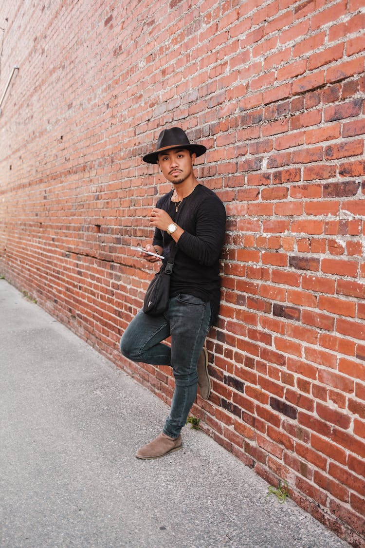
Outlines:
[{"label": "black shirt sleeve on the man's bent arm, nearest the brick wall", "polygon": [[199,262],[212,266],[221,255],[226,214],[223,203],[216,196],[206,197],[196,209],[195,235],[184,231],[178,240],[178,249]]}]

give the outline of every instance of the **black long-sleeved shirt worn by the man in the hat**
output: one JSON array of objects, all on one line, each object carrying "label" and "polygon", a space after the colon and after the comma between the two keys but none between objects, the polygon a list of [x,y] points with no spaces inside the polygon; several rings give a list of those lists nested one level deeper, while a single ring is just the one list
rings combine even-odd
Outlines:
[{"label": "black long-sleeved shirt worn by the man in the hat", "polygon": [[[187,293],[204,302],[209,301],[211,323],[215,324],[219,311],[219,256],[224,242],[225,209],[213,191],[198,185],[183,199],[176,213],[175,203],[171,201],[172,193],[165,194],[156,204],[184,230],[177,243],[170,297]],[[153,244],[163,247],[165,263],[169,259],[172,242],[167,232],[155,229]]]}]

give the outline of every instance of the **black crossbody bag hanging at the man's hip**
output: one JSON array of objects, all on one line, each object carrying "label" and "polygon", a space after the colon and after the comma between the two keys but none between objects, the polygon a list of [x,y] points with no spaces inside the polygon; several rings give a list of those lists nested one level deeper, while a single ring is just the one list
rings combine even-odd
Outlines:
[{"label": "black crossbody bag hanging at the man's hip", "polygon": [[143,312],[150,316],[159,316],[167,310],[170,298],[170,279],[177,247],[173,242],[171,254],[166,265],[162,265],[149,284],[143,301]]}]

